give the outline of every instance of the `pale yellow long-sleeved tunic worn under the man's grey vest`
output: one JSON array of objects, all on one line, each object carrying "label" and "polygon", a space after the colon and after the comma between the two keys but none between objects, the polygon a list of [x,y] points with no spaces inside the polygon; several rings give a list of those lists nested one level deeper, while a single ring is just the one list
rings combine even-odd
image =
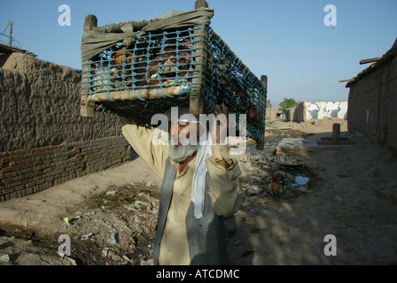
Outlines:
[{"label": "pale yellow long-sleeved tunic worn under the man's grey vest", "polygon": [[[128,122],[122,127],[122,134],[136,150],[136,153],[163,178],[169,156],[169,144],[151,142],[152,129],[136,126],[132,122]],[[237,212],[240,205],[238,176],[241,171],[237,161],[229,158],[227,145],[215,144],[212,149],[212,157],[206,158],[206,166],[210,174],[207,193],[211,197],[216,214],[225,216]],[[217,164],[216,160],[222,158],[230,164],[228,169]],[[196,157],[185,166],[183,172],[179,172],[178,163],[171,160],[171,164],[175,164],[177,173],[160,244],[159,264],[187,265],[191,263],[191,258],[185,220],[191,205],[191,182],[196,167]]]}]

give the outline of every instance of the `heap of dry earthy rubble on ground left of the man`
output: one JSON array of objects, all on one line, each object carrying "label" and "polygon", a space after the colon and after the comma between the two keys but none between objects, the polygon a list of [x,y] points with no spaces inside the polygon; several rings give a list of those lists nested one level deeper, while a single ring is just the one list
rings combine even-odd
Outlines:
[{"label": "heap of dry earthy rubble on ground left of the man", "polygon": [[[152,264],[159,202],[160,188],[154,183],[109,187],[66,219],[58,233],[70,235],[71,254],[82,264]],[[87,257],[90,246],[95,260]]]}]

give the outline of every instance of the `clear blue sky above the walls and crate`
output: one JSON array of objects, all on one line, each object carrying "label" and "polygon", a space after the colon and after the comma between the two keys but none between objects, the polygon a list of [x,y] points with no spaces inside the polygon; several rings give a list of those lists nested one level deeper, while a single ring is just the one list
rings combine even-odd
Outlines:
[{"label": "clear blue sky above the walls and crate", "polygon": [[[195,0],[0,0],[0,33],[13,20],[13,45],[39,58],[81,69],[84,18],[98,26],[191,11]],[[380,57],[397,37],[396,0],[207,0],[215,11],[211,27],[259,78],[269,77],[274,107],[297,101],[347,100],[346,83]],[[71,26],[59,26],[58,7],[67,4]],[[336,26],[324,25],[327,4],[336,7]],[[8,38],[0,36],[7,44]]]}]

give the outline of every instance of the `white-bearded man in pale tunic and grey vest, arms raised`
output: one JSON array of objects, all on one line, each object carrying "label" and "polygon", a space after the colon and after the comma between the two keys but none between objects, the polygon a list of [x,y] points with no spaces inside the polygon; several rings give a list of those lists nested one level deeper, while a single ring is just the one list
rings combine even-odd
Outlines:
[{"label": "white-bearded man in pale tunic and grey vest, arms raised", "polygon": [[[122,127],[137,154],[163,179],[154,264],[230,264],[222,217],[238,210],[241,171],[224,144],[225,123],[214,123],[203,145],[199,137],[206,127],[179,121],[186,112],[179,109],[178,121],[171,121],[171,144],[151,142],[152,129],[131,121]],[[223,103],[215,114],[228,119]]]}]

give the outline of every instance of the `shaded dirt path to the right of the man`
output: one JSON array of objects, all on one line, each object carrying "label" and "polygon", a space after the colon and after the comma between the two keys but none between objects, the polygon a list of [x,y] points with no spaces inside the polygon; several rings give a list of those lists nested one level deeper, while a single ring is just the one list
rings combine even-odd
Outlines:
[{"label": "shaded dirt path to the right of the man", "polygon": [[[397,264],[397,163],[360,143],[311,157],[311,180],[298,198],[238,211],[242,244],[230,249],[233,263]],[[324,255],[327,234],[336,237],[337,256]]]}]

